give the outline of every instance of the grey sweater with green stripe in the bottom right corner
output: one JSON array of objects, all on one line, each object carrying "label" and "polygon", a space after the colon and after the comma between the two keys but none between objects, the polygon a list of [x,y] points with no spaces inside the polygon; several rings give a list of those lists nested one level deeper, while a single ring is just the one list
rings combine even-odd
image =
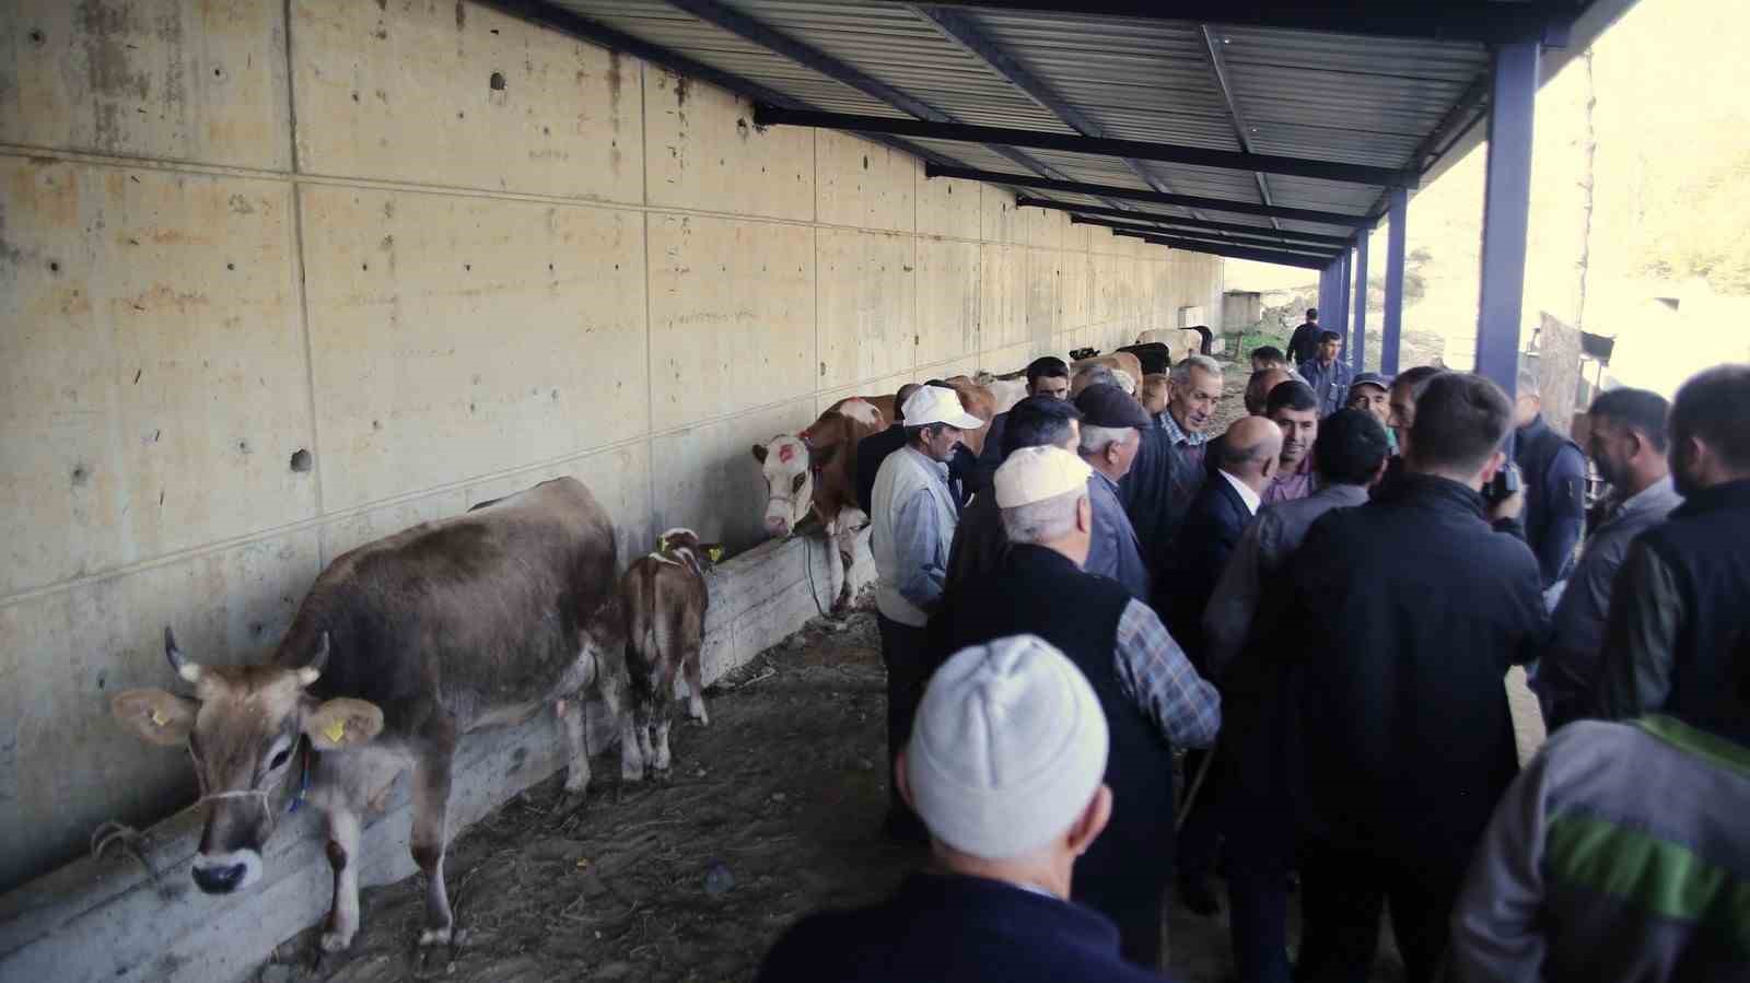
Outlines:
[{"label": "grey sweater with green stripe in the bottom right corner", "polygon": [[1750,749],[1673,717],[1563,728],[1452,910],[1452,983],[1750,980]]}]

